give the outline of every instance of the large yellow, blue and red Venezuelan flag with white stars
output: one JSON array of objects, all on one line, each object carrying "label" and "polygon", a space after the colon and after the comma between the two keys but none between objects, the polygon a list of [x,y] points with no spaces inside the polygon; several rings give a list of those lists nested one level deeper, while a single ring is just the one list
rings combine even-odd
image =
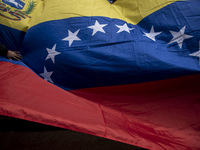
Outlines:
[{"label": "large yellow, blue and red Venezuelan flag with white stars", "polygon": [[0,114],[148,149],[199,149],[199,6],[1,0],[0,42],[23,59],[0,57]]}]

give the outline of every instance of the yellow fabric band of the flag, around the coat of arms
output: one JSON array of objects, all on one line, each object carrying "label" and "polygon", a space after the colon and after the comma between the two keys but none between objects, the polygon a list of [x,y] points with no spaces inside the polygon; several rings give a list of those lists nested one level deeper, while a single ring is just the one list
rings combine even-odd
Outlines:
[{"label": "yellow fabric band of the flag, around the coat of arms", "polygon": [[[8,11],[0,11],[0,23],[22,31],[42,22],[81,16],[104,16],[137,24],[144,17],[175,1],[178,0],[117,0],[110,4],[107,0],[23,0],[23,10],[28,8],[30,2],[36,4],[29,14],[30,18],[20,21],[6,19],[2,14],[9,15]],[[0,2],[3,3],[2,0]]]}]

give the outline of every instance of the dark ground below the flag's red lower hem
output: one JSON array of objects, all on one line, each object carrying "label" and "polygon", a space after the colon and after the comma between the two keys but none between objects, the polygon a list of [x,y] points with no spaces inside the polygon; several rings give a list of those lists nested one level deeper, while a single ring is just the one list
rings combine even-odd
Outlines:
[{"label": "dark ground below the flag's red lower hem", "polygon": [[145,150],[80,132],[0,116],[0,150]]}]

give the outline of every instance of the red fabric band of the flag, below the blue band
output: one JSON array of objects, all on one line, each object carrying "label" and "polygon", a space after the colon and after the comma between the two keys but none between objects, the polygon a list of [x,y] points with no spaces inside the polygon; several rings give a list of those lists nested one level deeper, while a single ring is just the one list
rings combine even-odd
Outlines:
[{"label": "red fabric band of the flag, below the blue band", "polygon": [[0,114],[153,150],[200,149],[200,75],[64,91],[0,62]]}]

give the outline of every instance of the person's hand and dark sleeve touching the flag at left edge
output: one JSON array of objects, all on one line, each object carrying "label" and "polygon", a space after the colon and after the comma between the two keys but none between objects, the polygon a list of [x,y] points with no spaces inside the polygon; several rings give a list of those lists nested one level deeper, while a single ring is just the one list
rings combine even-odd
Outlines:
[{"label": "person's hand and dark sleeve touching the flag at left edge", "polygon": [[4,46],[0,43],[0,55],[1,56],[5,56],[10,60],[14,59],[14,60],[19,61],[20,59],[22,59],[22,55],[20,55],[19,53],[20,52],[18,52],[18,51],[9,50],[6,46]]}]

